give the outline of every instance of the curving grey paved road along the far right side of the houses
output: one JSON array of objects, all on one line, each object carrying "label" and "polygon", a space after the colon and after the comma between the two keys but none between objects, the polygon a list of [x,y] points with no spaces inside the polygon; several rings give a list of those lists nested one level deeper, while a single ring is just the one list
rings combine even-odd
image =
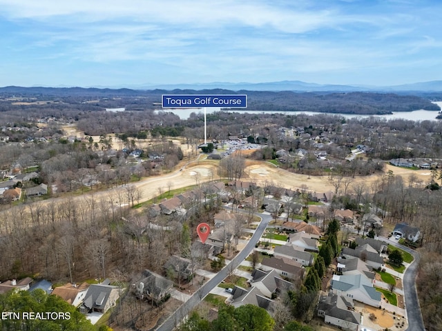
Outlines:
[{"label": "curving grey paved road along the far right side of the houses", "polygon": [[425,325],[423,324],[422,319],[421,305],[419,304],[416,290],[416,275],[419,261],[421,259],[421,254],[387,238],[379,237],[378,239],[387,241],[387,243],[394,245],[394,247],[401,248],[401,250],[405,250],[405,252],[409,252],[413,255],[414,260],[405,270],[405,274],[403,276],[405,308],[407,310],[408,319],[408,328],[406,331],[425,331]]}]

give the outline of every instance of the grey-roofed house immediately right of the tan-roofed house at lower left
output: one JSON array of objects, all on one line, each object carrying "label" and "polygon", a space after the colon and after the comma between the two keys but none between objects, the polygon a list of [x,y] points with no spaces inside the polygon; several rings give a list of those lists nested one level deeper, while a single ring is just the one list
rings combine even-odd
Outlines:
[{"label": "grey-roofed house immediately right of the tan-roofed house at lower left", "polygon": [[113,285],[105,285],[104,283],[89,286],[86,297],[80,307],[81,312],[84,314],[88,312],[101,312],[104,314],[109,308],[115,306],[121,288]]}]

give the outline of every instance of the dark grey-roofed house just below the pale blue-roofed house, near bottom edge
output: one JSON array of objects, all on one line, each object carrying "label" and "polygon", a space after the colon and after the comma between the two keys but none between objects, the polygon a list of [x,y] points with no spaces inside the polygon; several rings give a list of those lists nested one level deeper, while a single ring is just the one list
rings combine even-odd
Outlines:
[{"label": "dark grey-roofed house just below the pale blue-roofed house, near bottom edge", "polygon": [[343,330],[358,331],[361,325],[361,314],[354,311],[352,298],[332,293],[320,297],[318,317],[324,317],[325,323]]}]

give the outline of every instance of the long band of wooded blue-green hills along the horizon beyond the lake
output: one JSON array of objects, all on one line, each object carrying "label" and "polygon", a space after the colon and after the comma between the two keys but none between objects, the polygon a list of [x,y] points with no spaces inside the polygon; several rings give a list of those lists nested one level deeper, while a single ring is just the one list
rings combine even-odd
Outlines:
[{"label": "long band of wooded blue-green hills along the horizon beyond the lake", "polygon": [[[313,84],[314,85],[314,84]],[[314,87],[314,86],[311,86]],[[247,94],[247,110],[272,110],[293,112],[329,112],[340,114],[391,114],[412,110],[440,110],[430,102],[434,96],[418,96],[403,92],[302,92],[302,91],[259,91],[224,90],[221,88],[204,90],[132,90],[120,88],[22,88],[8,86],[0,88],[0,111],[23,108],[14,105],[10,97],[32,98],[33,101],[56,100],[65,104],[77,105],[81,109],[103,110],[104,108],[124,107],[126,110],[153,109],[161,102],[161,94]],[[90,104],[88,100],[97,100]],[[47,103],[43,103],[47,105]],[[35,103],[28,106],[36,107]],[[57,107],[57,106],[53,106]]]}]

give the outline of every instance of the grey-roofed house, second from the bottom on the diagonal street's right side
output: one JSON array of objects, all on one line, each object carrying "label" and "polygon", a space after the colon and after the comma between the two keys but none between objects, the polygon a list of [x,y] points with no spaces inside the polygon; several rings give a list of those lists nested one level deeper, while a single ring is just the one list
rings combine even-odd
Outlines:
[{"label": "grey-roofed house, second from the bottom on the diagonal street's right side", "polygon": [[294,284],[289,281],[285,281],[279,277],[276,270],[270,270],[268,272],[255,269],[253,270],[252,279],[250,285],[258,288],[262,294],[267,298],[272,298],[276,292],[281,290],[290,290],[294,288]]}]

